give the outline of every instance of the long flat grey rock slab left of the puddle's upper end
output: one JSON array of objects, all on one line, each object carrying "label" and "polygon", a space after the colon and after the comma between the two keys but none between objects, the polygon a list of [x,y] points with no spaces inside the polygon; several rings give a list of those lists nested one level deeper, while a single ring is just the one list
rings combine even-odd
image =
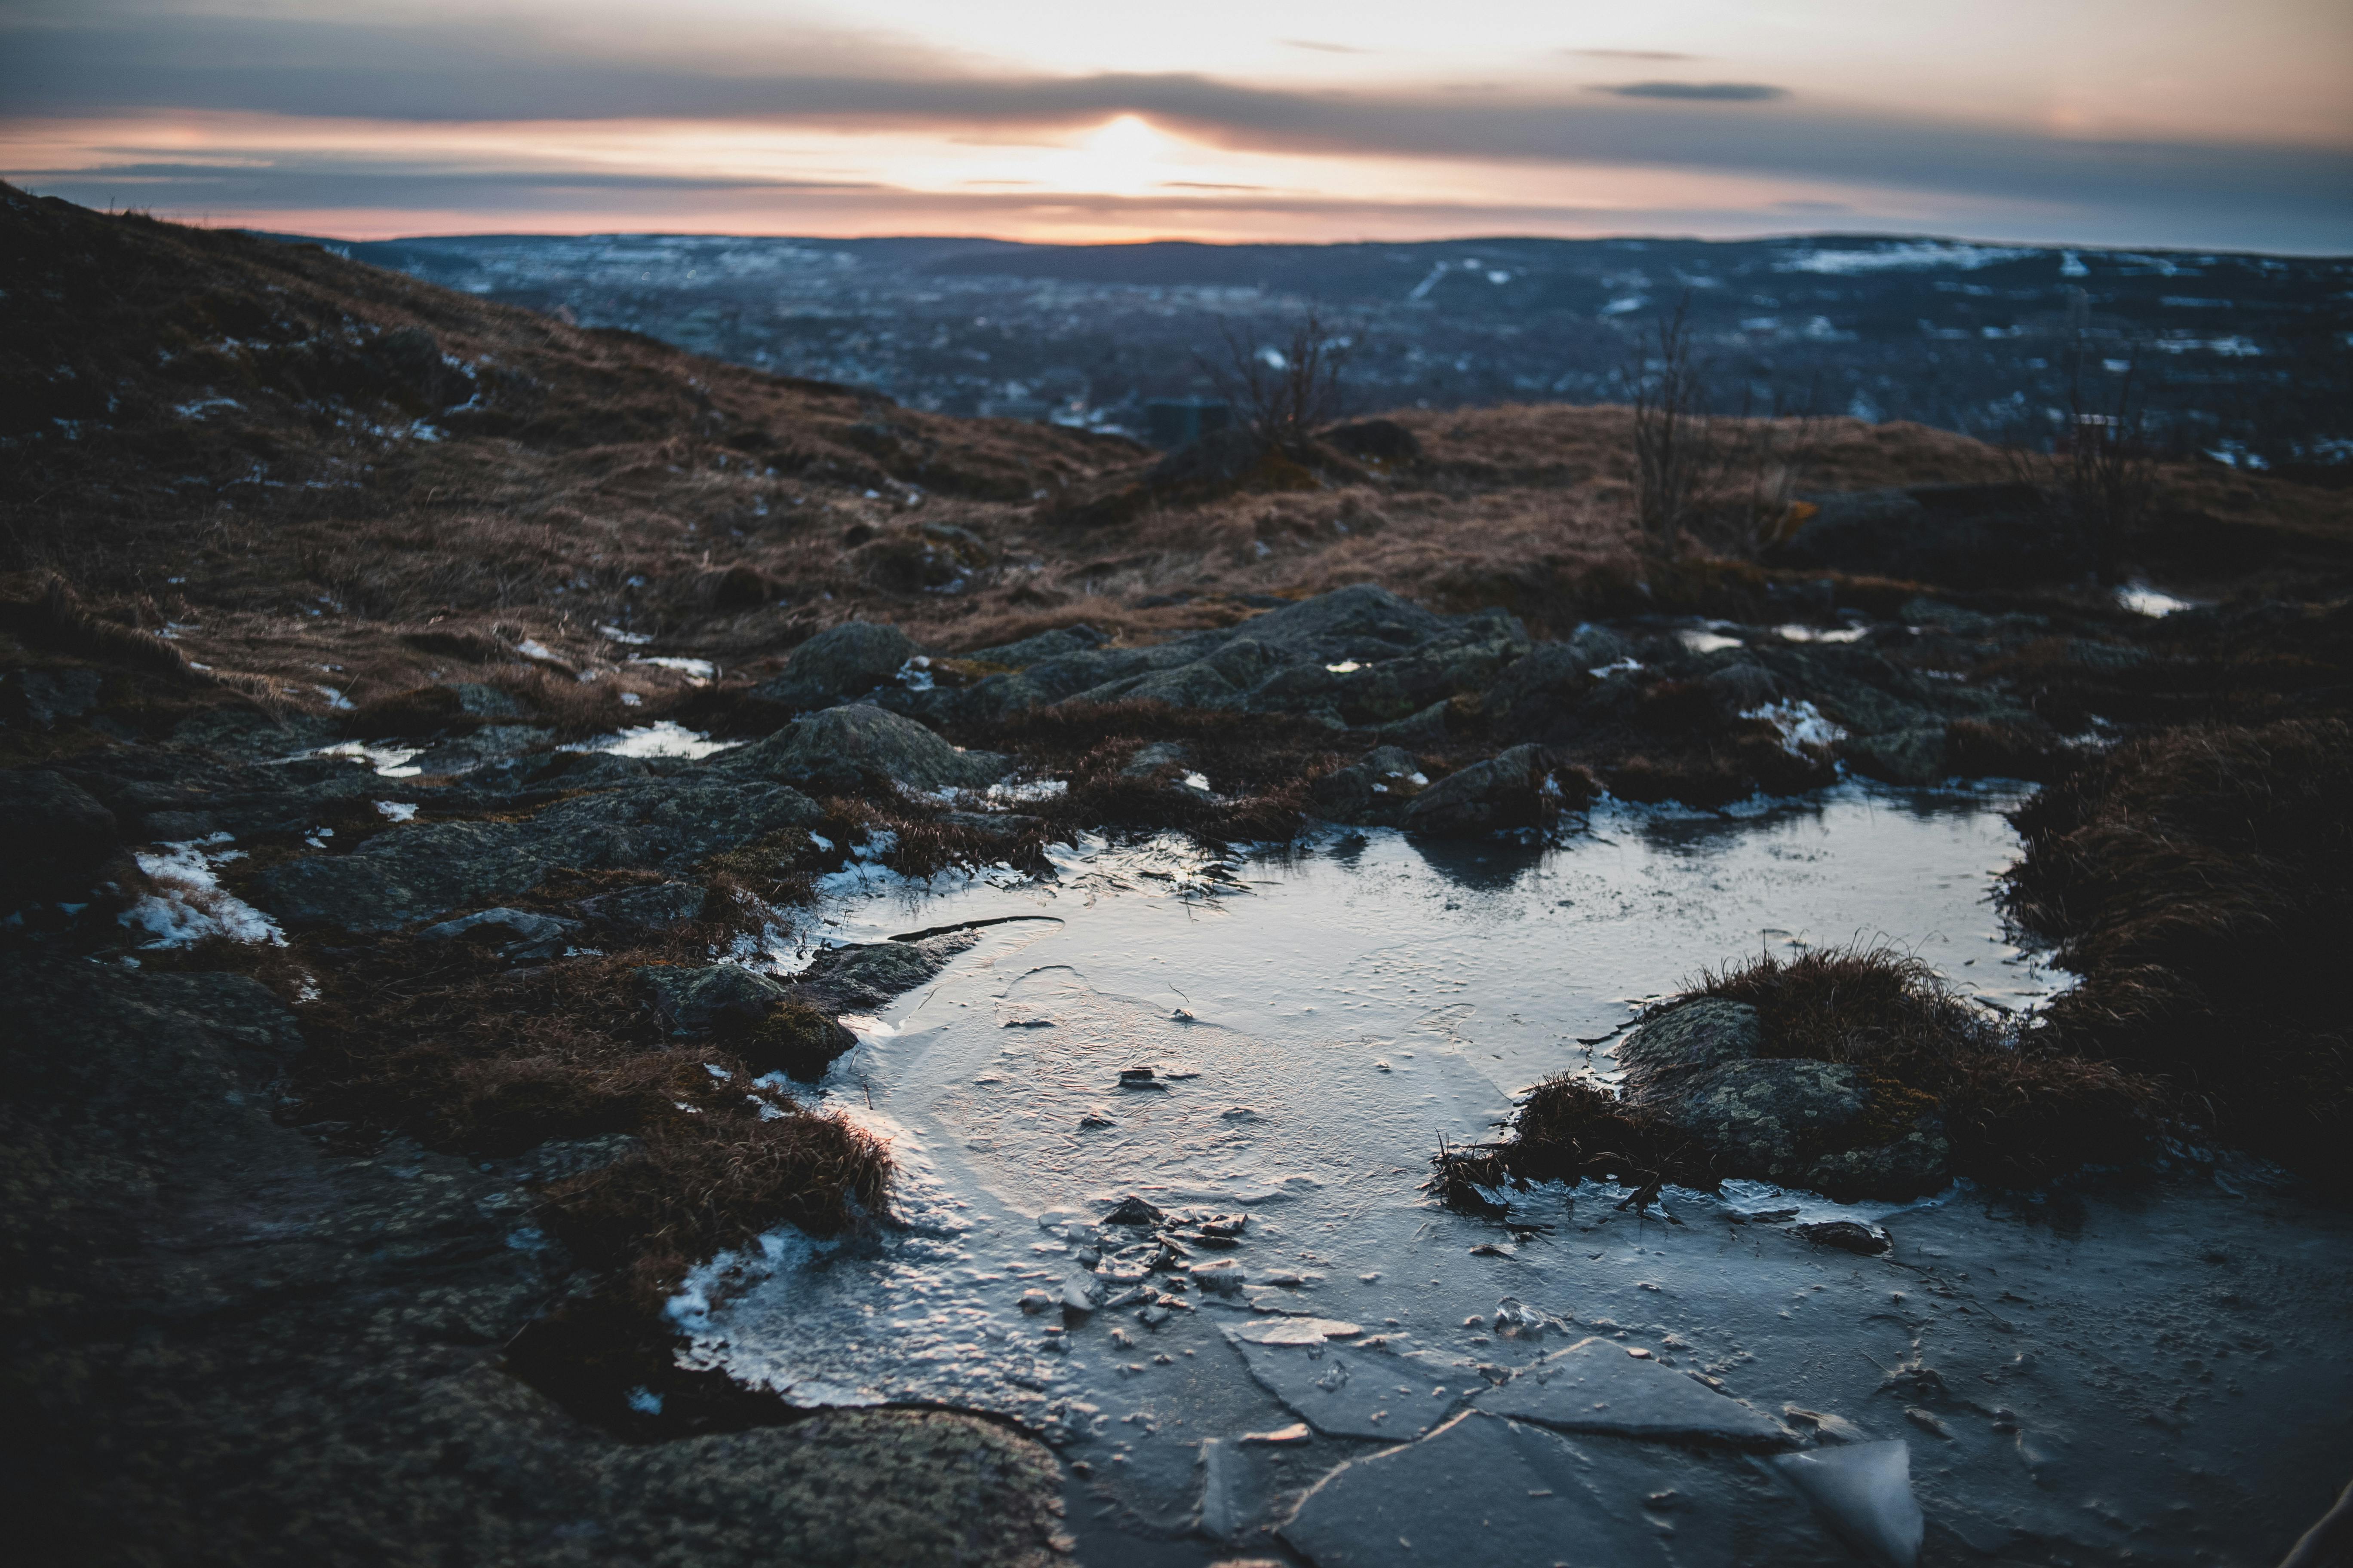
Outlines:
[{"label": "long flat grey rock slab left of the puddle's upper end", "polygon": [[[353,780],[372,792],[376,780]],[[711,773],[624,785],[555,802],[522,820],[388,827],[348,856],[306,856],[252,879],[252,903],[287,926],[398,931],[416,919],[511,898],[558,867],[687,870],[824,809],[772,783]]]}]

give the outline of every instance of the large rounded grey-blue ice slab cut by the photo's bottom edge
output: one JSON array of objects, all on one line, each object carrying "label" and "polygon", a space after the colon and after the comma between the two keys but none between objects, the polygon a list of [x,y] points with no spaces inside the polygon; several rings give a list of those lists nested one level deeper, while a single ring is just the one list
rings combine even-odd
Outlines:
[{"label": "large rounded grey-blue ice slab cut by the photo's bottom edge", "polygon": [[[1687,1497],[1673,1530],[1647,1502]],[[1278,1530],[1320,1568],[1522,1568],[1579,1563],[1828,1563],[1805,1502],[1748,1460],[1671,1446],[1569,1439],[1464,1410],[1428,1436],[1341,1465]]]}]

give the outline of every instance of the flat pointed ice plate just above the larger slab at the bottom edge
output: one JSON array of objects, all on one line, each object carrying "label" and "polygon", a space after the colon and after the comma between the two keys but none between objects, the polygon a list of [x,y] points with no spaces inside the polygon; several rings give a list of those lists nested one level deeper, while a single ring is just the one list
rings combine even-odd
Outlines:
[{"label": "flat pointed ice plate just above the larger slab at the bottom edge", "polygon": [[1489,1415],[1532,1420],[1555,1432],[1602,1432],[1645,1441],[1784,1448],[1781,1422],[1718,1394],[1617,1340],[1579,1340],[1473,1394]]}]

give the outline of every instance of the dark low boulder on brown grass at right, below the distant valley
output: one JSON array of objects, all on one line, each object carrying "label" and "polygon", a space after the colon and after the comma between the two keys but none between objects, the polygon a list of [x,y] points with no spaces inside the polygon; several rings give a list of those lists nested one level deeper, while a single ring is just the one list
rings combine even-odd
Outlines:
[{"label": "dark low boulder on brown grass at right, below the distant valley", "polygon": [[1805,496],[1807,515],[1767,564],[1953,588],[2078,578],[2089,538],[2033,484],[1915,484]]}]

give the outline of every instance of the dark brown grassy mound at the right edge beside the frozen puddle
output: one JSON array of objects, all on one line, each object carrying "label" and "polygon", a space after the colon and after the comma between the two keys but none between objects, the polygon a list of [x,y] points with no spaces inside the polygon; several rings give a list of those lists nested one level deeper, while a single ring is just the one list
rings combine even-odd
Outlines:
[{"label": "dark brown grassy mound at the right edge beside the frozen puddle", "polygon": [[2346,1173],[2353,729],[2155,731],[2017,823],[2012,912],[2082,976],[2038,1034],[2172,1077],[2226,1143]]}]

